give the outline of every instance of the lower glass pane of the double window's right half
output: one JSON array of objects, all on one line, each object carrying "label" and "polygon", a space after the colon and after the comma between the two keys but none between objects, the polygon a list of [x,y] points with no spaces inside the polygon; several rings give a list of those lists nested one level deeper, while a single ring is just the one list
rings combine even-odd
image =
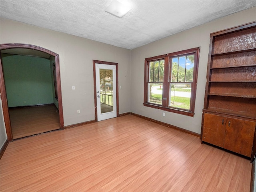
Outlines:
[{"label": "lower glass pane of the double window's right half", "polygon": [[185,110],[190,109],[191,84],[170,84],[170,100],[169,106],[181,108]]}]

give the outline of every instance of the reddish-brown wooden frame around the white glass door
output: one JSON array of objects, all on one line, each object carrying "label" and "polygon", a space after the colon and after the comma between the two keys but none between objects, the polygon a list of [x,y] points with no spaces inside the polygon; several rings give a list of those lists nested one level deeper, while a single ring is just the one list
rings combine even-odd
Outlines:
[{"label": "reddish-brown wooden frame around the white glass door", "polygon": [[97,90],[96,90],[96,69],[95,64],[105,64],[105,65],[114,65],[116,66],[116,116],[119,116],[119,102],[118,102],[118,63],[92,60],[93,61],[93,80],[94,80],[94,109],[95,109],[95,121],[98,121],[97,114]]}]

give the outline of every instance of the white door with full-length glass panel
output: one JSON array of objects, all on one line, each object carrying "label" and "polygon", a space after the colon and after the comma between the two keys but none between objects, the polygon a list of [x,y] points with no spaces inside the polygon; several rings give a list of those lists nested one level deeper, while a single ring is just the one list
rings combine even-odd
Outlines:
[{"label": "white door with full-length glass panel", "polygon": [[95,64],[98,121],[116,117],[116,66]]}]

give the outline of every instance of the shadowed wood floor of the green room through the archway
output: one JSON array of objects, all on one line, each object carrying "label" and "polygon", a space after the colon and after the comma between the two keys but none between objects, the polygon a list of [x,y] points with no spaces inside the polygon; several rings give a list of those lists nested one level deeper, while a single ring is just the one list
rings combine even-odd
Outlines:
[{"label": "shadowed wood floor of the green room through the archway", "polygon": [[9,109],[14,139],[60,128],[58,109],[54,104]]}]

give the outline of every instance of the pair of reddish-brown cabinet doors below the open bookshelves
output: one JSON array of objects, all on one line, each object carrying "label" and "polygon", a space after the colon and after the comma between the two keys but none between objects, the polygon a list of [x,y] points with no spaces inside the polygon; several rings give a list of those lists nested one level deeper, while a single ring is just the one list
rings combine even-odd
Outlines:
[{"label": "pair of reddish-brown cabinet doors below the open bookshelves", "polygon": [[251,157],[255,127],[253,121],[204,113],[202,141]]}]

